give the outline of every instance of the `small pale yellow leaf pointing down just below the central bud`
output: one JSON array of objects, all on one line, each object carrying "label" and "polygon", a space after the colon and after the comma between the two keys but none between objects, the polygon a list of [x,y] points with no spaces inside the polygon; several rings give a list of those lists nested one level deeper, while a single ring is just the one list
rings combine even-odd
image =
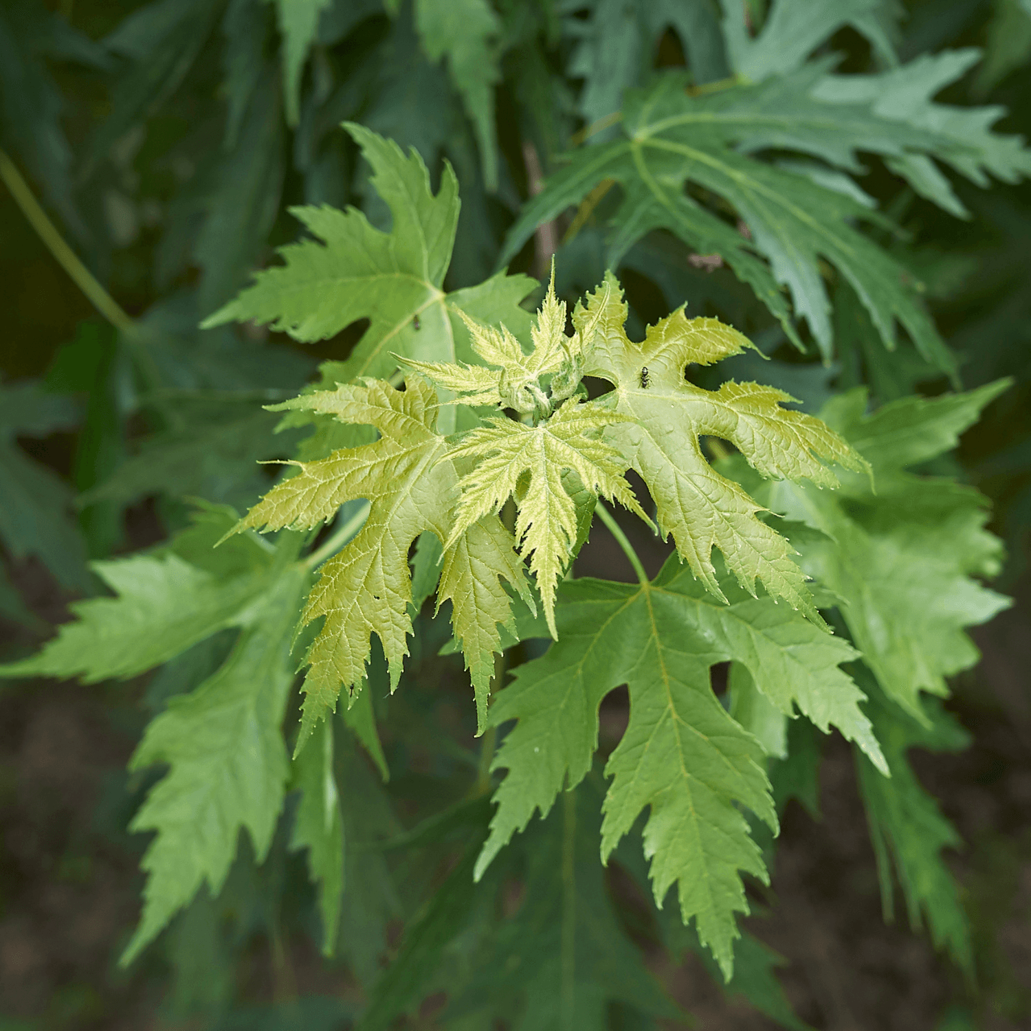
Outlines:
[{"label": "small pale yellow leaf pointing down just below the central bud", "polygon": [[571,469],[587,490],[614,498],[648,521],[623,477],[623,456],[601,438],[605,427],[623,421],[623,415],[593,402],[571,399],[536,426],[495,417],[448,452],[451,459],[479,461],[462,477],[462,499],[447,545],[514,497],[520,554],[530,557],[553,637],[555,588],[577,539],[576,506],[562,481],[563,470]]}]

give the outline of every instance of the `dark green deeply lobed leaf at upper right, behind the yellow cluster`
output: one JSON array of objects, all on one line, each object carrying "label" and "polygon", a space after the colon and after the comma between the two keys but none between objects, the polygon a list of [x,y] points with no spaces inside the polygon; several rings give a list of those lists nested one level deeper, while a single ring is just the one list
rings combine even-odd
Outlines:
[{"label": "dark green deeply lobed leaf at upper right, behind the yellow cluster", "polygon": [[[648,92],[631,94],[624,107],[624,137],[574,153],[569,165],[526,205],[501,260],[510,258],[542,222],[611,180],[622,187],[623,200],[610,225],[610,265],[650,230],[669,229],[698,253],[719,254],[797,341],[778,285],[787,286],[796,313],[805,317],[829,358],[830,305],[820,273],[820,260],[826,259],[853,285],[887,347],[895,346],[898,322],[922,354],[952,371],[952,356],[911,277],[853,226],[875,213],[837,190],[734,148],[776,145],[855,169],[858,140],[864,149],[889,155],[933,145],[933,136],[882,118],[869,105],[820,101],[812,95],[818,74],[819,69],[805,68],[787,79],[700,96],[686,91],[683,75],[669,74]],[[700,205],[685,192],[686,184],[729,202],[749,235]]]}]

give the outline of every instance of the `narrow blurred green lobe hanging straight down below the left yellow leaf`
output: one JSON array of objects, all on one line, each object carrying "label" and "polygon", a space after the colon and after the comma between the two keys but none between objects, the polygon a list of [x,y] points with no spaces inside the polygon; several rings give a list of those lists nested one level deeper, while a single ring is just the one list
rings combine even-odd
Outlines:
[{"label": "narrow blurred green lobe hanging straight down below the left yellow leaf", "polygon": [[343,897],[343,814],[333,768],[333,724],[315,730],[312,746],[294,760],[294,787],[301,800],[294,818],[290,847],[308,850],[308,872],[319,882],[323,921],[323,955],[332,956],[340,925]]}]

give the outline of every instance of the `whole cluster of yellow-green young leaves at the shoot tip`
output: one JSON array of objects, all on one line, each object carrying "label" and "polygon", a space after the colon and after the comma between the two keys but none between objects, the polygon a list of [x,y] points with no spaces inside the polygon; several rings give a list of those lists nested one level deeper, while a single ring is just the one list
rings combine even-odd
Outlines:
[{"label": "whole cluster of yellow-green young leaves at the shoot tip", "polygon": [[[391,688],[397,687],[412,630],[408,553],[427,533],[442,546],[437,604],[452,602],[483,729],[499,627],[512,627],[503,581],[526,590],[513,546],[529,561],[557,636],[557,585],[586,536],[584,516],[593,501],[599,495],[619,501],[651,524],[624,478],[628,466],[648,486],[664,532],[672,533],[681,558],[720,601],[726,595],[713,548],[750,593],[758,580],[820,622],[790,544],[757,518],[756,502],[712,469],[700,436],[732,441],[766,476],[807,477],[821,487],[837,483],[825,463],[862,470],[862,460],[818,420],[781,407],[790,398],[780,392],[729,383],[711,393],[687,383],[690,363],[708,364],[749,345],[716,320],[688,320],[680,310],[652,327],[643,343],[632,343],[611,274],[577,307],[571,335],[566,317],[553,277],[528,352],[504,324],[466,319],[484,364],[397,356],[433,380],[445,400],[456,395],[470,405],[514,409],[518,420],[494,415],[445,437],[437,427],[441,398],[415,374],[403,391],[365,378],[363,386],[339,385],[275,406],[370,426],[379,434],[371,443],[293,463],[297,471],[237,526],[307,530],[333,520],[341,505],[369,503],[364,526],[323,566],[301,614],[302,625],[321,626],[305,657],[299,745],[335,708],[341,687],[351,697],[360,689],[372,634],[383,644]],[[583,393],[585,373],[608,379],[614,390],[596,401],[574,396]],[[509,498],[517,509],[514,538],[497,518]],[[421,594],[428,593],[430,573],[424,560],[417,564],[427,581]]]}]

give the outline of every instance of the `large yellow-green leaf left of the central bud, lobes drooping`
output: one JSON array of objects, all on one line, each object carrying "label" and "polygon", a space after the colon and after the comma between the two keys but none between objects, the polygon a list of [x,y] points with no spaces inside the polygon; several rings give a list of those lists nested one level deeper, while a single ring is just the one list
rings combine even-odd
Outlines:
[{"label": "large yellow-green leaf left of the central bud, lobes drooping", "polygon": [[[361,387],[304,395],[278,408],[332,414],[380,433],[374,443],[295,463],[300,471],[273,488],[237,526],[311,528],[332,519],[345,501],[365,498],[370,503],[365,525],[323,566],[301,613],[302,625],[320,618],[324,622],[305,657],[309,668],[298,747],[327,710],[335,710],[341,685],[353,693],[364,679],[372,633],[383,642],[391,688],[397,687],[411,633],[408,550],[425,530],[446,541],[446,597],[456,628],[468,634],[468,642],[460,636],[483,725],[493,671],[493,662],[491,671],[485,668],[485,650],[497,650],[497,624],[506,625],[511,618],[508,596],[497,580],[511,577],[520,591],[526,586],[522,568],[503,554],[512,541],[505,543],[500,526],[491,528],[489,521],[476,519],[463,528],[463,539],[452,533],[458,476],[446,457],[446,441],[436,432],[436,393],[415,375],[404,391],[366,379]],[[477,577],[491,586],[485,588]],[[487,607],[477,611],[476,605]]]}]

